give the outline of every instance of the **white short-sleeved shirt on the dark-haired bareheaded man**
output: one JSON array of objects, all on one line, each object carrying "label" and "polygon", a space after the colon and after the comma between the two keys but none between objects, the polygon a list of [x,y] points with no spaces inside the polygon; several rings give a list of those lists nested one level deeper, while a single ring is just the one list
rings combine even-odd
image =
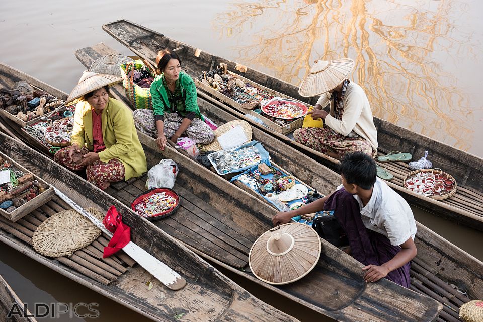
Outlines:
[{"label": "white short-sleeved shirt on the dark-haired bareheaded man", "polygon": [[[337,187],[341,189],[342,185]],[[416,221],[406,200],[392,190],[382,179],[376,178],[372,196],[367,205],[354,195],[361,209],[361,219],[367,229],[385,235],[391,245],[401,245],[416,235]]]}]

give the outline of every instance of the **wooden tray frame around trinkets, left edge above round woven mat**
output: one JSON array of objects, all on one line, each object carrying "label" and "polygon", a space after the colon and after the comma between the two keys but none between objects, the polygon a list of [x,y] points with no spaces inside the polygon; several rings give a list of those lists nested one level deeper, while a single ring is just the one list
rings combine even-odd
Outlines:
[{"label": "wooden tray frame around trinkets, left edge above round woven mat", "polygon": [[5,155],[2,152],[0,152],[0,156],[3,159],[8,160],[8,162],[10,162],[12,165],[14,165],[17,169],[19,169],[19,170],[21,170],[25,173],[32,174],[34,176],[34,179],[37,180],[39,183],[42,183],[42,184],[45,184],[45,185],[48,186],[48,188],[45,189],[44,192],[38,194],[35,198],[31,199],[30,201],[27,201],[26,203],[24,203],[22,206],[18,207],[17,209],[12,211],[11,213],[8,213],[4,209],[0,209],[0,214],[2,216],[4,216],[5,218],[15,222],[15,221],[19,220],[20,218],[28,215],[30,212],[37,209],[38,207],[42,206],[46,202],[50,201],[50,199],[52,199],[52,196],[55,194],[55,191],[45,181],[43,181],[41,178],[37,177],[36,175],[34,175],[32,172],[28,171],[27,169],[25,169],[21,165],[19,165],[12,158],[8,157],[7,155]]}]

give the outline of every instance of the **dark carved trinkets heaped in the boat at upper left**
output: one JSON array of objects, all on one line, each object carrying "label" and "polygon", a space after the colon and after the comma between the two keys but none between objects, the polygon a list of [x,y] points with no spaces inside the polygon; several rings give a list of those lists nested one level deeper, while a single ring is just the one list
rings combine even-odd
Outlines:
[{"label": "dark carved trinkets heaped in the boat at upper left", "polygon": [[51,112],[63,103],[45,91],[35,90],[25,81],[15,83],[12,89],[0,89],[0,108],[24,122]]}]

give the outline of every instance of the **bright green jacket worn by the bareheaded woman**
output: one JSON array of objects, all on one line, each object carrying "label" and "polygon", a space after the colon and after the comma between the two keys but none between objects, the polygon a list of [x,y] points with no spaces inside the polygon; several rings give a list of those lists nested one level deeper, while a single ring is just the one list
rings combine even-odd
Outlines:
[{"label": "bright green jacket worn by the bareheaded woman", "polygon": [[[200,108],[197,103],[198,95],[196,94],[196,86],[195,82],[193,82],[193,79],[184,72],[180,72],[180,76],[176,81],[176,87],[181,87],[182,92],[183,89],[185,90],[186,112],[195,112],[196,117],[204,121],[205,119],[203,115],[201,115]],[[154,115],[163,115],[165,112],[171,113],[167,91],[168,90],[163,85],[163,74],[161,74],[154,79],[150,88]],[[181,116],[184,117],[185,115],[181,112]]]}]

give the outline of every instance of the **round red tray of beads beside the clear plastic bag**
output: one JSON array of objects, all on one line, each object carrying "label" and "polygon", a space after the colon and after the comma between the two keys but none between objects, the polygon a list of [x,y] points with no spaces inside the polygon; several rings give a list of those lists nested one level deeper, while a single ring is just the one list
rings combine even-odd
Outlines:
[{"label": "round red tray of beads beside the clear plastic bag", "polygon": [[147,220],[158,220],[174,214],[180,207],[180,196],[170,188],[152,188],[137,195],[131,209]]}]

